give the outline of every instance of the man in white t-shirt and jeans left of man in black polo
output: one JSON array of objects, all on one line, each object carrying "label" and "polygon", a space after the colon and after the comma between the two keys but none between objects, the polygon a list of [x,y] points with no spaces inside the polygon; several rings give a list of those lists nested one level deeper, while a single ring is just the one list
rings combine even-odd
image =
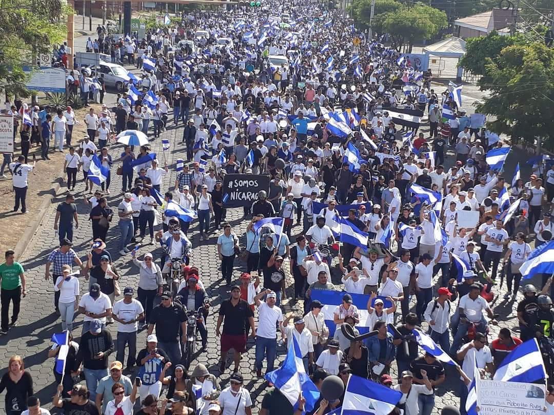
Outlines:
[{"label": "man in white t-shirt and jeans left of man in black polo", "polygon": [[112,317],[117,321],[117,357],[125,361],[125,345],[129,345],[127,369],[135,365],[137,353],[137,321],[144,318],[144,309],[139,300],[133,298],[134,289],[125,287],[123,299],[114,304]]}]

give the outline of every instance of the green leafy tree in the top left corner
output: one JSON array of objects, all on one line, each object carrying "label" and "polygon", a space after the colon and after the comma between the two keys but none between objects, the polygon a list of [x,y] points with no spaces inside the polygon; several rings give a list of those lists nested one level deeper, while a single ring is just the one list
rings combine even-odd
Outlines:
[{"label": "green leafy tree in the top left corner", "polygon": [[66,38],[66,16],[61,0],[12,0],[0,6],[0,91],[6,96],[29,96],[24,65],[33,56],[51,53]]}]

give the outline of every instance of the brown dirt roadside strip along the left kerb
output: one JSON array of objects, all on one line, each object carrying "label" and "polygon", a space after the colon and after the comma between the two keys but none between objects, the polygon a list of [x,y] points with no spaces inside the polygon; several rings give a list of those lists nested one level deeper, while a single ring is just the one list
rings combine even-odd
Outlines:
[{"label": "brown dirt roadside strip along the left kerb", "polygon": [[[91,107],[94,108],[97,114],[100,113],[100,105],[93,103]],[[79,121],[73,128],[73,139],[71,144],[75,147],[78,146],[86,134],[86,127],[83,120],[89,109],[90,108],[81,108],[75,111],[75,119]],[[54,139],[52,138],[50,146],[53,146],[53,142]],[[19,134],[16,136],[15,147],[16,152],[14,156],[17,158],[21,148]],[[39,220],[37,214],[40,205],[43,203],[45,197],[53,193],[55,184],[63,174],[63,163],[66,153],[68,153],[66,149],[64,153],[50,151],[50,160],[42,160],[40,158],[40,146],[35,147],[33,145],[30,149],[29,164],[33,163],[32,157],[33,154],[35,154],[37,158],[37,167],[33,170],[32,174],[29,174],[28,178],[27,214],[22,214],[20,211],[13,212],[15,194],[12,190],[12,175],[8,168],[4,169],[4,174],[6,174],[8,178],[0,179],[0,228],[4,230],[4,232],[0,233],[0,252],[13,249],[25,232],[25,229]],[[82,178],[82,173],[79,173],[78,179]],[[52,209],[55,209],[55,206],[52,206]]]}]

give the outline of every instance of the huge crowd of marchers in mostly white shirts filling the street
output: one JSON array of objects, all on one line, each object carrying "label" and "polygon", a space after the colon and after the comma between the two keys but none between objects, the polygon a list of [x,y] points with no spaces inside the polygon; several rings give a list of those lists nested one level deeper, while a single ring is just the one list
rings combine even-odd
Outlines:
[{"label": "huge crowd of marchers in mostly white shirts filling the street", "polygon": [[[143,39],[136,33],[111,39],[102,28],[98,34],[87,43],[90,51],[136,65],[141,76],[120,91],[115,109],[91,107],[83,120],[71,107],[54,115],[16,102],[9,114],[22,155],[16,162],[4,154],[1,172],[8,165],[14,211],[25,213],[27,175],[35,167],[29,149],[42,146],[44,160],[66,152],[65,200],[54,221],[59,241],[44,268],[55,290],[58,331],[68,334],[48,353],[57,361],[53,407],[91,415],[300,414],[302,397],[293,408],[269,383],[255,408],[243,377],[275,370],[278,346],[296,339],[317,387],[330,375],[345,385],[351,375],[361,376],[402,392],[392,413],[430,415],[437,413],[435,390],[454,372],[422,351],[412,334],[419,328],[459,363],[457,413],[465,414],[475,362],[481,377],[490,378],[522,341],[552,339],[551,278],[520,292],[520,267],[530,243],[537,247],[552,237],[554,165],[538,163],[529,181],[505,180],[486,160],[505,144],[483,128],[483,116],[466,115],[452,87],[435,91],[431,71],[415,59],[383,39],[366,39],[341,12],[315,1],[185,13],[180,24],[148,30]],[[87,105],[95,91],[100,103],[106,92],[102,74],[89,69],[68,70],[68,87]],[[87,134],[75,142],[79,122]],[[136,130],[159,143],[173,128],[182,129],[175,144],[185,147],[171,183],[173,172],[149,146],[121,147],[111,139]],[[89,177],[98,175],[96,160],[107,169],[100,186]],[[81,170],[91,220],[85,257],[73,250],[74,230],[86,226],[74,193]],[[244,234],[227,222],[227,174],[270,178],[269,188],[240,212]],[[115,192],[121,200],[110,207],[114,175],[121,175]],[[519,207],[509,211],[516,201]],[[168,215],[170,204],[189,216]],[[269,218],[282,219],[280,230],[257,225]],[[353,238],[343,236],[345,227]],[[230,289],[227,298],[217,298],[217,317],[201,272],[208,258],[191,254],[197,235],[213,247]],[[112,252],[111,236],[117,239]],[[136,286],[121,287],[116,260],[132,260]],[[504,277],[503,300],[517,303],[516,318],[491,308]],[[0,278],[0,334],[7,335],[26,295],[14,251],[6,251]],[[322,303],[322,292],[340,293],[340,300]],[[355,301],[366,298],[360,295],[367,304]],[[299,305],[294,313],[284,312],[285,299],[287,307]],[[84,323],[76,333],[79,314]],[[502,320],[512,321],[512,330],[493,333],[491,325]],[[199,352],[218,342],[215,369],[191,365],[190,324],[197,326]],[[352,339],[342,325],[355,336],[375,333]],[[137,350],[141,331],[146,344]],[[251,347],[253,367],[242,360]],[[49,413],[34,395],[22,357],[9,360],[4,389],[7,414]],[[554,413],[549,391],[546,411]],[[334,411],[341,400],[321,397],[309,413]]]}]

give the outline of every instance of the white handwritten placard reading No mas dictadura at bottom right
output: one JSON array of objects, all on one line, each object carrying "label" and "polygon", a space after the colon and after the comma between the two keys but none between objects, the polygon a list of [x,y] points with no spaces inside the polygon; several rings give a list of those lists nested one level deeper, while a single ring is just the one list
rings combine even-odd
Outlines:
[{"label": "white handwritten placard reading No mas dictadura at bottom right", "polygon": [[544,415],[545,385],[479,381],[479,415]]}]

